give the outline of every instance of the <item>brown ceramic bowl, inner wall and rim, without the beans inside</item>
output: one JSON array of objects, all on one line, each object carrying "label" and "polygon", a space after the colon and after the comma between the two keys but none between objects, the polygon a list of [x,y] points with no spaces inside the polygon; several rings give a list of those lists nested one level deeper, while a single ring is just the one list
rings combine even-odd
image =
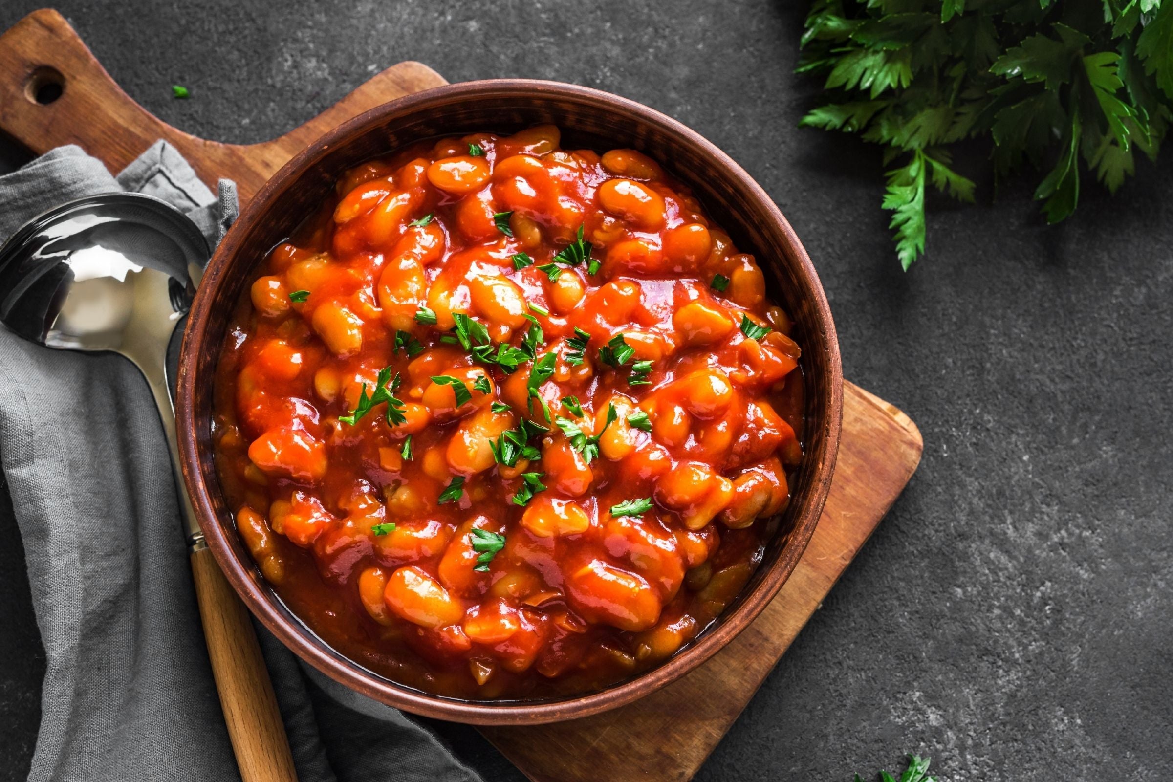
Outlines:
[{"label": "brown ceramic bowl, inner wall and rim, without the beans inside", "polygon": [[[633,148],[690,186],[738,247],[757,256],[769,295],[795,321],[806,378],[804,463],[761,565],[725,613],[657,668],[582,695],[517,701],[442,698],[385,679],[330,648],[277,598],[240,543],[219,488],[211,441],[212,379],[229,313],[269,250],[332,192],[344,170],[413,141],[552,122],[563,147]],[[231,172],[229,172],[231,174]],[[778,593],[819,522],[839,444],[842,368],[830,310],[806,250],[765,191],[721,150],[679,122],[615,95],[555,82],[499,80],[439,87],[335,128],[291,159],[246,205],[212,257],[191,310],[179,362],[183,475],[208,545],[253,614],[310,665],[360,693],[416,714],[480,725],[554,722],[646,695],[683,676],[741,632]]]}]

